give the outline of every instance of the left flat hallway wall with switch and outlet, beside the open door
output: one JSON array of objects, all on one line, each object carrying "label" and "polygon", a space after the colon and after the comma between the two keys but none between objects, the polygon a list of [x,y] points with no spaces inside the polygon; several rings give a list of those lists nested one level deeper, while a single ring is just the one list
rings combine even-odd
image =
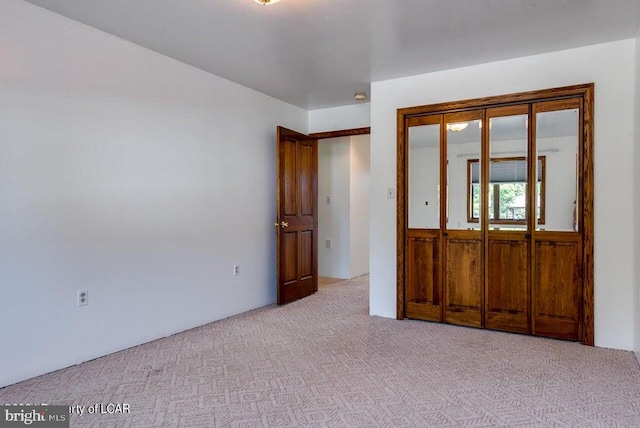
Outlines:
[{"label": "left flat hallway wall with switch and outlet, beside the open door", "polygon": [[[318,143],[318,275],[351,278],[349,137]],[[331,197],[331,203],[327,202]],[[331,240],[327,248],[326,240]]]}]

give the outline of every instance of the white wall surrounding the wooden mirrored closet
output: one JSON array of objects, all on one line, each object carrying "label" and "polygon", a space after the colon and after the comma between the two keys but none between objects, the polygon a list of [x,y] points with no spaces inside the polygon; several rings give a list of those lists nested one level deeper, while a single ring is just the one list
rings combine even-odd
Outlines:
[{"label": "white wall surrounding the wooden mirrored closet", "polygon": [[[372,84],[372,315],[396,315],[398,108],[595,82],[595,342],[633,349],[634,40]],[[616,189],[612,191],[611,189]]]}]

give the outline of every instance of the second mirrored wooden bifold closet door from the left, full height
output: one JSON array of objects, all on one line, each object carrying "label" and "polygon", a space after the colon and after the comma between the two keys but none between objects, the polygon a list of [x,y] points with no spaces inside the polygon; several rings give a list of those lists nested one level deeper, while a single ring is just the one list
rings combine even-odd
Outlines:
[{"label": "second mirrored wooden bifold closet door from the left, full height", "polygon": [[[483,110],[444,115],[444,321],[473,327],[483,324],[483,241],[482,221],[473,222],[468,217],[467,206],[473,196],[468,186],[467,161],[476,159],[482,164],[483,116]],[[473,200],[472,204],[482,212],[481,199]]]}]

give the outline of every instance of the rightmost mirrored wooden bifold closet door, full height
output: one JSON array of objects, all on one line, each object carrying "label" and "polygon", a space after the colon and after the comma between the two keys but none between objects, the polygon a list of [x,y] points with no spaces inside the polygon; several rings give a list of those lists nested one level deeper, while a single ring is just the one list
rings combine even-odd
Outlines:
[{"label": "rightmost mirrored wooden bifold closet door, full height", "polygon": [[533,105],[535,147],[547,156],[544,222],[538,219],[533,233],[532,329],[569,340],[583,340],[581,104],[567,99]]}]

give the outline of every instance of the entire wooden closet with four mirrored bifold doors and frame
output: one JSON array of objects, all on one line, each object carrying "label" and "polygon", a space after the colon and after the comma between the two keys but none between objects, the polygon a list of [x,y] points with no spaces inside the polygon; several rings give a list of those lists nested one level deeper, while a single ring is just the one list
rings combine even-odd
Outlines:
[{"label": "entire wooden closet with four mirrored bifold doors and frame", "polygon": [[398,110],[398,318],[593,344],[593,85]]}]

